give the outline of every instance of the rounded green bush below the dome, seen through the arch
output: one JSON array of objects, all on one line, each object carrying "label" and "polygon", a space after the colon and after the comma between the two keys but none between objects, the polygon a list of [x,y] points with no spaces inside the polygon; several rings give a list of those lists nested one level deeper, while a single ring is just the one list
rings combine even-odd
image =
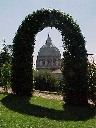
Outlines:
[{"label": "rounded green bush below the dome, seen through the arch", "polygon": [[50,70],[34,72],[34,88],[41,91],[60,91],[60,79]]}]

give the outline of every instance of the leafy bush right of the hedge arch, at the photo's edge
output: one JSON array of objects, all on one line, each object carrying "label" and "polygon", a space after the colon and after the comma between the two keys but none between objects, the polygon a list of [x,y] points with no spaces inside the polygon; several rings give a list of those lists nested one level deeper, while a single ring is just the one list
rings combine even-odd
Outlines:
[{"label": "leafy bush right of the hedge arch, at the photo's edge", "polygon": [[89,99],[96,105],[96,65],[88,64]]}]

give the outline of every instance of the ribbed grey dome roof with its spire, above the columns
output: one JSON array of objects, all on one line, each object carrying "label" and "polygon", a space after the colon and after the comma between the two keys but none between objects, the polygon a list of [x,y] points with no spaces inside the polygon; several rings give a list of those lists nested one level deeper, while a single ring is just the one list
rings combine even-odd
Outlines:
[{"label": "ribbed grey dome roof with its spire, above the columns", "polygon": [[38,56],[61,56],[59,49],[52,44],[49,34],[45,45],[40,48]]}]

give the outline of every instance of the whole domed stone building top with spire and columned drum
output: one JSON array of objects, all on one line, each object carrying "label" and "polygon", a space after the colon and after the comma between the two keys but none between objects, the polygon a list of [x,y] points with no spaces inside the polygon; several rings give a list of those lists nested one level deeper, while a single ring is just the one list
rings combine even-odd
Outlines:
[{"label": "whole domed stone building top with spire and columned drum", "polygon": [[52,44],[52,40],[48,34],[45,45],[43,45],[37,55],[36,69],[50,69],[52,71],[60,69],[61,54],[59,49]]}]

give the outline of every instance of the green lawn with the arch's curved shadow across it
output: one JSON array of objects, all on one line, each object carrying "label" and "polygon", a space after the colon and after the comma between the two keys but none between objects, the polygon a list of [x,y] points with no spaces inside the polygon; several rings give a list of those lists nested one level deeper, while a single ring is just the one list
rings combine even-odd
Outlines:
[{"label": "green lawn with the arch's curved shadow across it", "polygon": [[95,110],[41,97],[0,94],[0,128],[95,128]]}]

